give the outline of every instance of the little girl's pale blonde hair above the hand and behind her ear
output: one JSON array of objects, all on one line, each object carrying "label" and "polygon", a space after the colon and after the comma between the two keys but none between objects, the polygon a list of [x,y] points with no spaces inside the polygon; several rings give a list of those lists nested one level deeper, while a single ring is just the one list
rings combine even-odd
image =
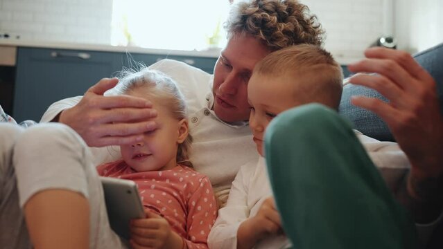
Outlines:
[{"label": "little girl's pale blonde hair above the hand and behind her ear", "polygon": [[[177,120],[187,119],[187,107],[184,96],[177,87],[175,81],[168,75],[150,69],[144,64],[134,63],[137,69],[125,68],[119,73],[119,83],[107,95],[122,95],[137,91],[139,88],[146,89],[148,95],[157,100],[161,100],[177,118]],[[184,142],[177,148],[177,163],[193,167],[189,160],[192,136],[188,134]]]}]

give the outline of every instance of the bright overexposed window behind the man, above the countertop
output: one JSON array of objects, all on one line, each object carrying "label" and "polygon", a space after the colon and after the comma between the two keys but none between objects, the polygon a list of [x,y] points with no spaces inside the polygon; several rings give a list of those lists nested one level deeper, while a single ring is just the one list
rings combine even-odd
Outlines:
[{"label": "bright overexposed window behind the man, above the countertop", "polygon": [[112,45],[206,50],[225,45],[227,0],[114,0]]}]

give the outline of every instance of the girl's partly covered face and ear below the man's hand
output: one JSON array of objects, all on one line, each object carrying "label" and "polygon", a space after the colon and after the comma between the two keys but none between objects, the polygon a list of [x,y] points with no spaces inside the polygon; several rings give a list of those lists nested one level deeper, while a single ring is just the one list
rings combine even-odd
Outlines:
[{"label": "girl's partly covered face and ear below the man's hand", "polygon": [[[130,95],[146,98],[146,92]],[[133,145],[121,145],[121,156],[125,163],[137,172],[172,169],[177,165],[177,147],[188,136],[186,119],[177,120],[168,107],[155,98],[148,98],[157,110],[157,129],[144,133],[144,139]]]}]

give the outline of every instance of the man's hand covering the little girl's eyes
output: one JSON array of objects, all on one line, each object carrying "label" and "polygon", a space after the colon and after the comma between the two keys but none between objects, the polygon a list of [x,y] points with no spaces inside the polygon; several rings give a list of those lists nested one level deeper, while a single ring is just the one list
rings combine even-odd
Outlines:
[{"label": "man's hand covering the little girl's eyes", "polygon": [[[87,90],[76,106],[60,113],[58,122],[69,125],[91,147],[124,145],[142,139],[156,129],[152,103],[129,95],[103,96],[118,79],[104,78]],[[144,121],[137,121],[144,120]]]}]

